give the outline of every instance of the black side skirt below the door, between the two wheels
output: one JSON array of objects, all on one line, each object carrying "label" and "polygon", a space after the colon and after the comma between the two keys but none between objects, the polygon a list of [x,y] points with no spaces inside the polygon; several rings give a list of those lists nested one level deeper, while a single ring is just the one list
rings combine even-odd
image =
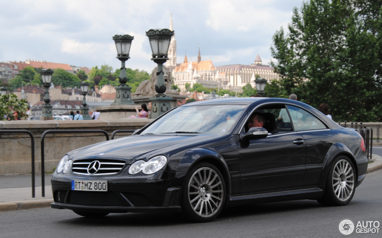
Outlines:
[{"label": "black side skirt below the door, between the two wheels", "polygon": [[228,196],[226,206],[280,202],[291,200],[317,200],[324,195],[325,185],[309,186],[294,189],[267,191],[266,193],[235,194]]}]

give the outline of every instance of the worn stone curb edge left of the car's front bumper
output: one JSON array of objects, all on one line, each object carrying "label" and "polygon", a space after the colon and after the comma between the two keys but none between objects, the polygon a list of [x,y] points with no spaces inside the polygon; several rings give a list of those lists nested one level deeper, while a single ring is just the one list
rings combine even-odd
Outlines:
[{"label": "worn stone curb edge left of the car's front bumper", "polygon": [[39,208],[39,207],[50,207],[51,202],[53,202],[52,198],[0,202],[0,212],[24,210],[24,209]]}]

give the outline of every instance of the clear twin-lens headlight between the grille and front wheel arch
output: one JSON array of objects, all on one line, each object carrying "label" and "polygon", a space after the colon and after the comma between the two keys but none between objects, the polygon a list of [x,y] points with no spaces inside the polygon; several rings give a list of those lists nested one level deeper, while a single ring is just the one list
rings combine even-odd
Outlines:
[{"label": "clear twin-lens headlight between the grille and front wheel arch", "polygon": [[155,156],[149,161],[138,160],[129,168],[129,174],[133,175],[142,171],[144,174],[152,174],[158,172],[167,163],[167,158],[163,155]]}]

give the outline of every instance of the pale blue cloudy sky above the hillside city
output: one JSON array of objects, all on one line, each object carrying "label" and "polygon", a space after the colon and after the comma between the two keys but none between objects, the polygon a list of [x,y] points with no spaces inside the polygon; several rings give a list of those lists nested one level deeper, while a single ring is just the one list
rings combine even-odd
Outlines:
[{"label": "pale blue cloudy sky above the hillside city", "polygon": [[112,36],[134,36],[129,68],[151,71],[145,32],[168,28],[170,13],[177,62],[202,60],[215,66],[253,63],[257,53],[271,60],[275,31],[286,28],[302,0],[13,0],[2,1],[0,61],[26,59],[91,68],[120,67]]}]

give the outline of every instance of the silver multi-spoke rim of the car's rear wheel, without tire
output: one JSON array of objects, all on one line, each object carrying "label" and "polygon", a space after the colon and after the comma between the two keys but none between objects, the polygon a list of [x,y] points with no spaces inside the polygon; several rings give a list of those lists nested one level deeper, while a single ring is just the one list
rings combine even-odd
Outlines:
[{"label": "silver multi-spoke rim of the car's rear wheel, without tire", "polygon": [[340,160],[333,170],[334,194],[340,201],[346,201],[353,194],[354,172],[347,160]]}]

